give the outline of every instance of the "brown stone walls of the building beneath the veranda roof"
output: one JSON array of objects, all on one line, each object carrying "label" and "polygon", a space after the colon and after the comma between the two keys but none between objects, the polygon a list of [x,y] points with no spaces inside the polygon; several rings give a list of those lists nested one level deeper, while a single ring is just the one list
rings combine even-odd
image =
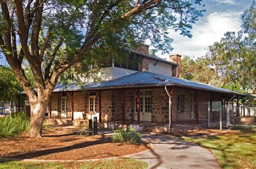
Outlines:
[{"label": "brown stone walls of the building beneath the veranda roof", "polygon": [[[177,98],[180,95],[180,111],[177,110]],[[199,92],[199,103],[207,103],[210,100],[221,101],[221,95],[213,95],[207,92]],[[61,112],[61,97],[62,93],[52,94],[52,111],[58,112],[60,117]],[[152,89],[152,122],[169,122],[169,98],[163,88]],[[135,90],[125,90],[125,119],[134,115]],[[71,118],[71,96],[67,93],[66,96],[66,110],[68,118]],[[99,96],[96,95],[96,111],[99,112]],[[194,107],[194,108],[193,108]],[[207,104],[199,104],[199,119],[207,119]],[[89,92],[74,92],[74,112],[83,112],[83,117],[86,119],[86,114],[89,111]],[[109,90],[102,91],[102,121],[112,121],[113,115],[118,115],[122,112],[122,91]],[[172,112],[173,121],[188,121],[192,119],[192,114],[196,118],[196,91],[175,88],[172,95]],[[134,116],[133,116],[134,117]],[[134,118],[132,118],[134,119]],[[116,120],[122,120],[122,115],[118,116]]]}]

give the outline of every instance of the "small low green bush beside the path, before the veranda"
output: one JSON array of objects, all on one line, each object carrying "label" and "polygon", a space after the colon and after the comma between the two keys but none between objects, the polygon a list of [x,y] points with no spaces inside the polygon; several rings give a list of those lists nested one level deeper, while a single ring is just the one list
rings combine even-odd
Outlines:
[{"label": "small low green bush beside the path, before the veranda", "polygon": [[124,129],[118,129],[114,132],[112,140],[114,142],[127,142],[136,144],[142,142],[142,135],[140,135],[139,132],[136,132],[132,128],[128,128],[127,131]]}]

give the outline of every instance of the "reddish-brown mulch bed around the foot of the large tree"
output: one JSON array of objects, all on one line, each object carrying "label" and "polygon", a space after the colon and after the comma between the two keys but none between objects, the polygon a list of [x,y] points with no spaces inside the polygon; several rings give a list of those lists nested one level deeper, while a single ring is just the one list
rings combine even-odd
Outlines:
[{"label": "reddish-brown mulch bed around the foot of the large tree", "polygon": [[0,157],[80,160],[124,156],[149,149],[145,144],[113,143],[111,136],[79,136],[76,128],[46,126],[42,138],[0,140]]}]

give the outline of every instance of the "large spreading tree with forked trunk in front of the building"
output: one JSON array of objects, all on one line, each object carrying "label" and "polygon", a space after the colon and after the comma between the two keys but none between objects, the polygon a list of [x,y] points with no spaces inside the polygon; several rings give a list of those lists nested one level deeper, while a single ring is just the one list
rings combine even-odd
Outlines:
[{"label": "large spreading tree with forked trunk in front of the building", "polygon": [[[40,137],[44,114],[60,75],[81,59],[88,65],[151,40],[169,52],[167,30],[191,37],[190,29],[204,10],[196,1],[161,0],[0,0],[0,45],[31,107],[30,137]],[[122,50],[121,50],[122,51]],[[28,62],[36,90],[22,63]]]}]

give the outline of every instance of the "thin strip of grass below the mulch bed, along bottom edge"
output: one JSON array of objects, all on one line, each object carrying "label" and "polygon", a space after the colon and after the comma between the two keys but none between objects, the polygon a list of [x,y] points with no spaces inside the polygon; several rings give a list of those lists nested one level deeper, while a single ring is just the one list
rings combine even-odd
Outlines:
[{"label": "thin strip of grass below the mulch bed, along bottom edge", "polygon": [[1,162],[0,168],[147,168],[144,161],[135,159],[110,159],[99,161],[78,162],[40,162],[28,163],[22,161]]}]

